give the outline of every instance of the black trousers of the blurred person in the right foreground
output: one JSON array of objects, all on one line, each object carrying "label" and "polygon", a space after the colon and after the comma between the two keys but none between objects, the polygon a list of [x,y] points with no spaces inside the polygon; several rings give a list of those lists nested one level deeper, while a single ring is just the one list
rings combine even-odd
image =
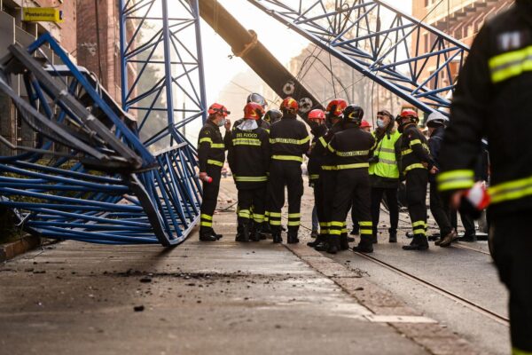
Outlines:
[{"label": "black trousers of the blurred person in the right foreground", "polygon": [[492,217],[489,233],[499,277],[510,291],[510,333],[514,354],[532,352],[532,209]]}]

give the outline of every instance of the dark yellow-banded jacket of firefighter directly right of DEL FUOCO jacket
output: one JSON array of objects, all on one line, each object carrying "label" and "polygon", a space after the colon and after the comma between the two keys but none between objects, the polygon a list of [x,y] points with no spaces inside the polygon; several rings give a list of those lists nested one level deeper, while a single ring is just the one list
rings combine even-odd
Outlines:
[{"label": "dark yellow-banded jacket of firefighter directly right of DEL FUOCO jacket", "polygon": [[310,137],[305,123],[286,114],[270,127],[271,159],[303,162],[302,155],[309,151]]}]

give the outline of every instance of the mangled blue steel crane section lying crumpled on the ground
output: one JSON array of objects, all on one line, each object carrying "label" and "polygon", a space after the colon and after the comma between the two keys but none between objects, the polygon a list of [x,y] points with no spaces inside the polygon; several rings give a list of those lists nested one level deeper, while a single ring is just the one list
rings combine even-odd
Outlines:
[{"label": "mangled blue steel crane section lying crumpled on the ground", "polygon": [[[12,90],[21,75],[25,96]],[[0,205],[36,235],[107,244],[176,245],[200,215],[196,156],[182,142],[156,154],[138,137],[137,120],[76,67],[45,34],[0,59],[8,95],[35,145],[0,144]]]}]

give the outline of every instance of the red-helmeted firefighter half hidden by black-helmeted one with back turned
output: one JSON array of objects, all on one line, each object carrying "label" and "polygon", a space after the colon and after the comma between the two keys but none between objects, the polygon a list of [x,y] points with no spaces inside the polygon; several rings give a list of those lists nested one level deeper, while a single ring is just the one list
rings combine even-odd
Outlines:
[{"label": "red-helmeted firefighter half hidden by black-helmeted one with back turned", "polygon": [[[343,129],[341,124],[341,114],[343,110],[348,106],[348,103],[344,99],[333,99],[326,107],[326,120],[325,125],[329,127],[326,134],[317,139],[317,144],[313,148],[313,155],[319,156],[320,171],[319,180],[321,192],[321,201],[324,205],[323,220],[319,221],[320,233],[322,237],[317,239],[315,243],[310,243],[310,247],[316,248],[318,251],[325,251],[329,248],[329,225],[332,221],[332,200],[334,198],[334,184],[336,184],[336,165],[334,165],[334,157],[327,154],[327,145],[331,141],[335,133]],[[347,229],[346,238],[347,238]],[[343,235],[343,230],[342,230]],[[343,241],[343,236],[342,236]],[[348,249],[349,244],[347,241],[341,244],[342,249]]]}]

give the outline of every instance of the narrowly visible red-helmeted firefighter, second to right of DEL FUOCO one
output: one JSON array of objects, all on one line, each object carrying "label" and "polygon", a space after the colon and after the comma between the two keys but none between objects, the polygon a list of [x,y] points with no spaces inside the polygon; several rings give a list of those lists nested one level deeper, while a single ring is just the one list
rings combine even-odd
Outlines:
[{"label": "narrowly visible red-helmeted firefighter, second to right of DEL FUOCO one", "polygon": [[[324,209],[322,185],[320,180],[321,170],[321,158],[322,154],[319,154],[319,149],[316,149],[317,145],[320,145],[320,138],[325,136],[327,132],[327,126],[325,126],[325,112],[320,109],[314,109],[309,112],[307,116],[310,122],[310,133],[314,136],[312,138],[312,144],[310,145],[309,162],[307,169],[309,170],[309,185],[314,189],[314,209],[316,209],[317,221],[324,221]],[[309,247],[315,247],[322,241],[325,241],[325,237],[328,233],[328,229],[323,225],[320,225],[319,233],[316,235],[315,241],[307,243]]]}]

